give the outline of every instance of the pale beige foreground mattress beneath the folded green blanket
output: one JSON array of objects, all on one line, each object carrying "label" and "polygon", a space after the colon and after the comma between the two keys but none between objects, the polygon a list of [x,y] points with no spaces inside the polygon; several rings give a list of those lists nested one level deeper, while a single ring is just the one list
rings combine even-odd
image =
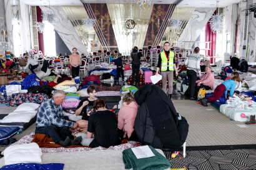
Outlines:
[{"label": "pale beige foreground mattress beneath the folded green blanket", "polygon": [[[164,156],[160,149],[156,149]],[[70,153],[42,153],[42,164],[62,163],[64,169],[113,169],[124,168],[122,150],[119,151],[86,151]],[[0,168],[4,166],[4,158],[0,159]]]}]

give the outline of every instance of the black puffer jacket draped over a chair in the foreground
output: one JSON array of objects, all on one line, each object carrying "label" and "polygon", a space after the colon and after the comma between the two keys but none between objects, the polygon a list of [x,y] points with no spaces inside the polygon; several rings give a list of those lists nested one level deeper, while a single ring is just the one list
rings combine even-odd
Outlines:
[{"label": "black puffer jacket draped over a chair in the foreground", "polygon": [[135,93],[135,100],[140,105],[134,122],[140,143],[177,151],[187,138],[189,124],[184,117],[178,120],[169,97],[156,85],[144,85]]}]

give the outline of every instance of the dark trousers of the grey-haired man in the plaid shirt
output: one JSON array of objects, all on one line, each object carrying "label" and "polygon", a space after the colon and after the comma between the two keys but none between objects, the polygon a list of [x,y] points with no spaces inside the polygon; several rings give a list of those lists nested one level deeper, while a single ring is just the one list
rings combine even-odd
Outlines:
[{"label": "dark trousers of the grey-haired man in the plaid shirt", "polygon": [[55,143],[58,143],[60,140],[65,140],[67,137],[74,139],[68,127],[57,127],[54,125],[36,127],[36,134],[37,133],[49,135]]}]

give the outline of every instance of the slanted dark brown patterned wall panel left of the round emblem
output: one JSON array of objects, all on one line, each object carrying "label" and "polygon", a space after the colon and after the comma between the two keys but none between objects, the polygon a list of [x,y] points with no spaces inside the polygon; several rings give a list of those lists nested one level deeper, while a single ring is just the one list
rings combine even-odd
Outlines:
[{"label": "slanted dark brown patterned wall panel left of the round emblem", "polygon": [[[99,27],[101,27],[101,31],[107,41],[107,45],[117,46],[114,29],[112,27],[111,17],[109,16],[109,11],[107,10],[107,4],[90,4],[90,5],[92,8],[92,12],[94,13],[94,16],[97,19]],[[89,14],[87,7],[85,7],[85,9],[86,9],[88,16],[90,17],[91,15]],[[95,29],[95,31],[96,31],[96,34],[98,35],[99,34],[98,31],[96,29]],[[98,35],[98,37],[100,38],[99,35]],[[114,48],[114,49],[116,49],[116,48]]]}]

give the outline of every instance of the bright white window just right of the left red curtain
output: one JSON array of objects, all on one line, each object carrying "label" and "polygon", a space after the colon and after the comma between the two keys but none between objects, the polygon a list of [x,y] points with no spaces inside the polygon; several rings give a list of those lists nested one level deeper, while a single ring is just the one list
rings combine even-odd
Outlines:
[{"label": "bright white window just right of the left red curtain", "polygon": [[56,56],[56,41],[54,26],[49,23],[44,24],[44,55],[48,57]]}]

